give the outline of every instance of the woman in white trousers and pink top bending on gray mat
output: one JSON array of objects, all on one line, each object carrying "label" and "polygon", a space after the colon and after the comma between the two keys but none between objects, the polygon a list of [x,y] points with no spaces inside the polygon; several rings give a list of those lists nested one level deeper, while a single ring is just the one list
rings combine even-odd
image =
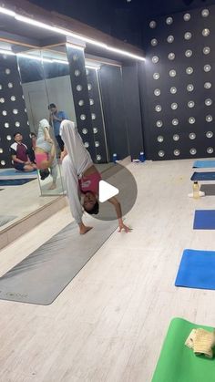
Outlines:
[{"label": "woman in white trousers and pink top bending on gray mat", "polygon": [[[83,208],[89,214],[98,213],[98,186],[101,175],[94,166],[74,122],[63,120],[60,135],[65,144],[61,160],[70,210],[79,226],[80,234],[84,234],[92,227],[87,227],[82,221]],[[113,197],[108,201],[117,212],[119,232],[129,232],[129,228],[122,221],[121,206],[117,198]]]}]

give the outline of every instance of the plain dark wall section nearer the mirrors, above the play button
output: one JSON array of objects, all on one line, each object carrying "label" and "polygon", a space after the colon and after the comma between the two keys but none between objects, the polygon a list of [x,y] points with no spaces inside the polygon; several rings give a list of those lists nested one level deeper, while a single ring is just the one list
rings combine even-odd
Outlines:
[{"label": "plain dark wall section nearer the mirrors, above the play button", "polygon": [[122,160],[128,156],[129,150],[121,68],[103,65],[98,76],[110,160],[113,153],[117,153],[118,160]]}]

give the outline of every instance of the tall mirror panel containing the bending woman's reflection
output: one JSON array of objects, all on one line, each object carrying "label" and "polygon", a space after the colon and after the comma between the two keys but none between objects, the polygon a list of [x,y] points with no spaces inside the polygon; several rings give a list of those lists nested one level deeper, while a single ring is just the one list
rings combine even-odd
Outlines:
[{"label": "tall mirror panel containing the bending woman's reflection", "polygon": [[[56,109],[57,101],[64,93],[63,87],[60,87],[60,79],[67,74],[64,71],[67,62],[66,64],[62,62],[58,62],[55,52],[51,51],[31,50],[25,55],[18,55],[30,131],[35,134],[32,146],[39,170],[42,195],[64,193],[60,170],[62,146],[59,135],[56,134],[56,125],[60,125],[60,119],[68,118],[66,113],[63,115]],[[48,97],[48,89],[56,95],[52,101]],[[50,104],[53,104],[52,108]]]}]

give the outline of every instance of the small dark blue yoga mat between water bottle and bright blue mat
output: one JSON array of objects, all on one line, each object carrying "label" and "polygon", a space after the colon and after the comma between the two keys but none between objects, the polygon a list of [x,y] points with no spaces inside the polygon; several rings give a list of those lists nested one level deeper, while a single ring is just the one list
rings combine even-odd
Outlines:
[{"label": "small dark blue yoga mat between water bottle and bright blue mat", "polygon": [[196,210],[194,230],[215,230],[215,210]]}]

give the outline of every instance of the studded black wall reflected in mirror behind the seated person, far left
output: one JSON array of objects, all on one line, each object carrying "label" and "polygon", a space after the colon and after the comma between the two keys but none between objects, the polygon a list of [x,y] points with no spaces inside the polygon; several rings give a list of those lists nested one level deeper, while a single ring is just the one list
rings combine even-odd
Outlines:
[{"label": "studded black wall reflected in mirror behind the seated person, far left", "polygon": [[30,147],[26,105],[16,57],[0,55],[0,168],[10,168],[10,146],[14,133],[21,132]]}]

